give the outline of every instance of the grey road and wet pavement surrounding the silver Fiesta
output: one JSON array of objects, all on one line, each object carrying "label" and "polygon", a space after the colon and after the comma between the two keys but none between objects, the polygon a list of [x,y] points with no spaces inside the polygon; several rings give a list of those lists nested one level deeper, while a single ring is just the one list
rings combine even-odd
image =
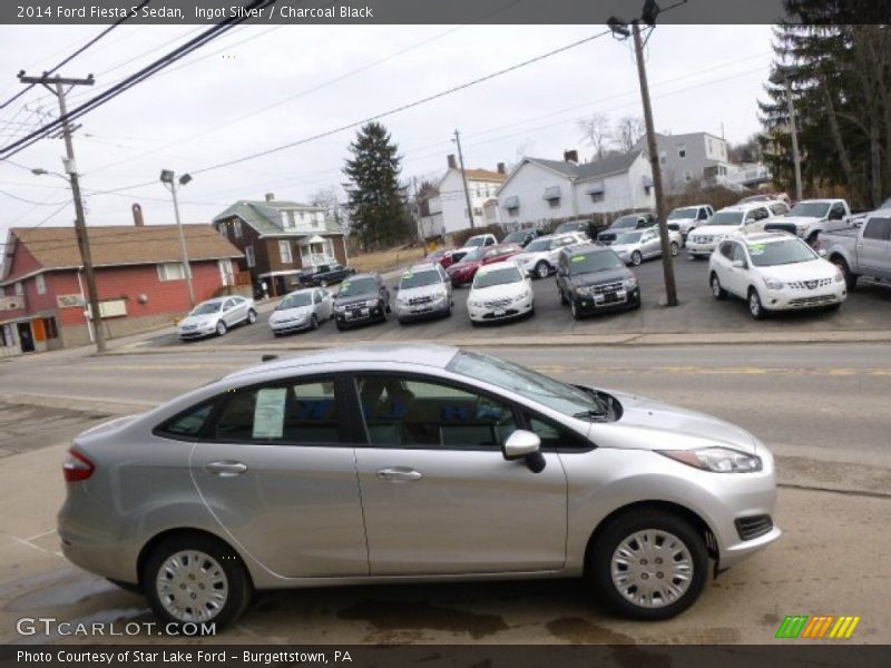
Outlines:
[{"label": "grey road and wet pavement surrounding the silver Fiesta", "polygon": [[[709,583],[660,623],[619,620],[581,581],[351,587],[263,593],[217,642],[772,642],[786,615],[860,615],[852,639],[891,641],[884,592],[891,523],[891,344],[527,347],[498,354],[564,380],[715,413],[777,453],[783,539]],[[21,617],[150,621],[144,601],[68,564],[55,514],[68,440],[104,415],[143,410],[258,362],[241,350],[0,364],[0,641]],[[851,564],[855,564],[851,568]],[[168,638],[140,636],[145,641]],[[67,638],[95,642],[96,638]],[[123,641],[129,638],[106,638]],[[183,640],[185,642],[185,640]]]}]

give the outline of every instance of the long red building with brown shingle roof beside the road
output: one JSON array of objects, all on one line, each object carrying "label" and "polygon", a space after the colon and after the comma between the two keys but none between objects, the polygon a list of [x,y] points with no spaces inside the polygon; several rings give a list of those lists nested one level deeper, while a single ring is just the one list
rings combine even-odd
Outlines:
[{"label": "long red building with brown shingle roof beside the road", "polygon": [[[209,225],[184,225],[195,299],[238,291],[241,252]],[[189,310],[175,225],[92,226],[90,252],[108,338]],[[12,228],[0,267],[0,356],[88,344],[87,281],[74,227]]]}]

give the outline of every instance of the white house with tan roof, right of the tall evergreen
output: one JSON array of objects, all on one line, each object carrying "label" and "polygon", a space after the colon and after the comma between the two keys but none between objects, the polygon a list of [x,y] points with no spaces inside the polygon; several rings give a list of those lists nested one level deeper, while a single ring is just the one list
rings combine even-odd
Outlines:
[{"label": "white house with tan roof, right of the tall evergreen", "polygon": [[[428,215],[420,220],[419,233],[422,238],[439,237],[470,227],[461,169],[454,156],[448,156],[448,160],[449,169],[437,184],[438,195],[428,200]],[[483,227],[498,223],[496,194],[507,178],[505,164],[499,163],[497,171],[464,169],[464,176],[473,210],[473,225]]]}]

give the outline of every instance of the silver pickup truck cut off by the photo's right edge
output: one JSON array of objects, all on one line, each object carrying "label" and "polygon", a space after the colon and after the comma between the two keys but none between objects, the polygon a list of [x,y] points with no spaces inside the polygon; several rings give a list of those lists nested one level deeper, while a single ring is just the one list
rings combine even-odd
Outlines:
[{"label": "silver pickup truck cut off by the photo's right edge", "polygon": [[891,208],[866,214],[860,227],[821,234],[817,250],[842,271],[848,289],[860,276],[891,281]]}]

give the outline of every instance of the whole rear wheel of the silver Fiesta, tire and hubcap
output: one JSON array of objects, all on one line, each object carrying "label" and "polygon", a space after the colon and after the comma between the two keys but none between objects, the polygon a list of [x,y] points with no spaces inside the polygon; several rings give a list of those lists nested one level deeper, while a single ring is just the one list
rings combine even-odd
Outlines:
[{"label": "whole rear wheel of the silver Fiesta, tire and hubcap", "polygon": [[[233,622],[251,602],[252,586],[241,558],[225,543],[203,534],[179,534],[148,556],[143,589],[166,625],[183,628]],[[192,627],[188,628],[189,632]]]}]

